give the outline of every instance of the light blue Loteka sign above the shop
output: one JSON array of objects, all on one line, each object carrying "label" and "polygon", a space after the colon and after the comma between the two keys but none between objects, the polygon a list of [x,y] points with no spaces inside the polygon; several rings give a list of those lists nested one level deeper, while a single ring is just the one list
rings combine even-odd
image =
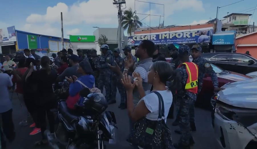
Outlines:
[{"label": "light blue Loteka sign above the shop", "polygon": [[213,34],[213,45],[229,45],[235,44],[236,34],[234,32]]}]

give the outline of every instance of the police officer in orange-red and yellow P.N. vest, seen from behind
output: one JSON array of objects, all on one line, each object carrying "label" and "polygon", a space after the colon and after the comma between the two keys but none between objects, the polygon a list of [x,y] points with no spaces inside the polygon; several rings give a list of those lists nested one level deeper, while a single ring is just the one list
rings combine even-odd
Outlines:
[{"label": "police officer in orange-red and yellow P.N. vest, seen from behind", "polygon": [[177,149],[190,149],[195,142],[190,133],[189,108],[192,107],[196,100],[198,90],[198,67],[193,62],[189,62],[190,48],[182,45],[178,48],[178,57],[182,64],[176,71],[181,75],[182,90],[176,94],[180,101],[179,128],[181,137],[178,143],[174,143]]}]

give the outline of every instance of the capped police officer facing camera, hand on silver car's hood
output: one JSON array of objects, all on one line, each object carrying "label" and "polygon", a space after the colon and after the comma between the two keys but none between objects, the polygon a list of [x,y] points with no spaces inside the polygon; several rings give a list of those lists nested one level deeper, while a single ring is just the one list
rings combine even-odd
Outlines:
[{"label": "capped police officer facing camera, hand on silver car's hood", "polygon": [[[202,85],[203,85],[203,77],[205,76],[205,73],[209,74],[211,76],[211,80],[213,81],[214,91],[220,91],[221,88],[218,88],[218,77],[216,73],[214,72],[211,64],[207,62],[204,58],[202,58],[201,55],[201,45],[195,44],[191,48],[191,55],[193,58],[193,61],[195,64],[197,64],[199,68],[199,75],[198,75],[198,93],[201,92]],[[192,131],[196,131],[195,127],[195,109],[194,106],[191,107],[190,110],[190,126]]]}]

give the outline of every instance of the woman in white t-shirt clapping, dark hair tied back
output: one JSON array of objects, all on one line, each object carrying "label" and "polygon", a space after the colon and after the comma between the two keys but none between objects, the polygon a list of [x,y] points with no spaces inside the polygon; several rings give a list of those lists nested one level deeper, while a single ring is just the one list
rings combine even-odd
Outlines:
[{"label": "woman in white t-shirt clapping, dark hair tied back", "polygon": [[[131,78],[128,75],[124,75],[122,83],[127,90],[127,109],[128,115],[133,121],[138,121],[143,117],[146,119],[156,121],[159,113],[159,99],[155,93],[149,93],[145,95],[145,91],[142,86],[142,78],[136,72],[133,73],[134,83],[131,83]],[[153,85],[153,91],[158,91],[163,97],[164,109],[165,109],[165,122],[169,113],[169,108],[172,103],[172,93],[181,89],[181,78],[179,74],[173,71],[171,65],[168,62],[157,61],[150,66],[148,72],[148,83]],[[168,88],[165,86],[166,82],[170,81],[171,85]],[[137,106],[133,104],[133,89],[137,86],[137,90],[141,97]]]}]

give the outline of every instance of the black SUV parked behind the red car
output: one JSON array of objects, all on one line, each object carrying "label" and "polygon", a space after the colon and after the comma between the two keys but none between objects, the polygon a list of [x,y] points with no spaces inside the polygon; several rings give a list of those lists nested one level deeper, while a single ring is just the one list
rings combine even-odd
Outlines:
[{"label": "black SUV parked behind the red car", "polygon": [[224,70],[240,74],[248,74],[257,71],[257,60],[247,54],[202,53],[201,56]]}]

